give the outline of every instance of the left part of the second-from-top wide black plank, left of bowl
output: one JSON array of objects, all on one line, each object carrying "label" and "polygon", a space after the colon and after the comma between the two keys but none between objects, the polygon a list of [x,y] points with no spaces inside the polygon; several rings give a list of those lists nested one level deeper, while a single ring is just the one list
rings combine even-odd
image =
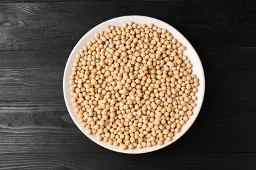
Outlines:
[{"label": "left part of the second-from-top wide black plank, left of bowl", "polygon": [[0,52],[1,101],[63,99],[69,52]]}]

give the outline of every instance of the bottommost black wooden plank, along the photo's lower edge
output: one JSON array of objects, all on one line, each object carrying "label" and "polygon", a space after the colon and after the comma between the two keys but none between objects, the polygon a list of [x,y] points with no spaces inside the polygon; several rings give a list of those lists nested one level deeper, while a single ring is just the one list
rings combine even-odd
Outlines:
[{"label": "bottommost black wooden plank, along the photo's lower edge", "polygon": [[[81,148],[83,150],[83,148]],[[1,154],[0,169],[255,169],[255,154]],[[246,158],[246,159],[245,159]],[[133,162],[133,163],[131,163]]]}]

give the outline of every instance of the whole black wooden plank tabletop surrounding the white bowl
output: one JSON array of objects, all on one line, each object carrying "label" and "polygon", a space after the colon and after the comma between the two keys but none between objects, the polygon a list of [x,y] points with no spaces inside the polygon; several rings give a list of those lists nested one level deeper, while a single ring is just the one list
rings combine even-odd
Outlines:
[{"label": "whole black wooden plank tabletop surrounding the white bowl", "polygon": [[[148,154],[89,140],[68,114],[62,76],[77,41],[110,18],[173,25],[205,70],[205,100],[188,132]],[[0,2],[0,169],[256,169],[255,1]]]}]

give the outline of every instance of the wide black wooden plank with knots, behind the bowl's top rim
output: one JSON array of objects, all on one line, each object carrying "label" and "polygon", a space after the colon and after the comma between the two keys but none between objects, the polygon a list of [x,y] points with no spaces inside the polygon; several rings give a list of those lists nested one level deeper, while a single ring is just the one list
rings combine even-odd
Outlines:
[{"label": "wide black wooden plank with knots, behind the bowl's top rim", "polygon": [[[92,27],[129,14],[176,27],[196,48],[256,47],[255,1],[0,3],[0,50],[71,50]],[[161,12],[160,12],[161,11]]]}]

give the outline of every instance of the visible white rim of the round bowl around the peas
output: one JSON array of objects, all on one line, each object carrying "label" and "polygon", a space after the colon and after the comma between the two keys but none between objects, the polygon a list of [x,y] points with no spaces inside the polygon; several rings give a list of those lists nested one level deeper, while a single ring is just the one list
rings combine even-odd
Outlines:
[{"label": "visible white rim of the round bowl around the peas", "polygon": [[[75,54],[79,51],[80,48],[83,48],[87,44],[87,41],[91,40],[95,33],[98,33],[99,31],[105,31],[108,25],[114,25],[119,26],[123,23],[128,22],[135,22],[136,24],[154,24],[158,27],[161,27],[162,29],[167,29],[173,35],[175,39],[178,40],[178,42],[181,42],[184,46],[186,46],[186,50],[184,51],[184,55],[188,56],[188,59],[190,59],[193,67],[193,73],[196,74],[200,80],[200,86],[198,86],[198,92],[196,93],[196,96],[198,97],[198,100],[196,101],[196,107],[193,109],[193,115],[190,116],[190,120],[186,122],[181,128],[181,131],[179,133],[175,133],[175,136],[173,137],[173,140],[171,142],[165,141],[163,145],[156,145],[152,147],[146,147],[146,148],[135,148],[134,150],[122,150],[120,146],[113,146],[108,143],[105,143],[104,141],[98,141],[96,139],[96,135],[88,135],[86,133],[85,127],[81,126],[78,122],[78,115],[74,112],[74,107],[72,106],[72,102],[70,99],[72,98],[72,95],[69,92],[69,77],[72,72],[72,63],[75,59]],[[161,20],[157,20],[155,18],[150,18],[148,16],[121,16],[118,18],[114,18],[112,20],[108,20],[106,22],[103,22],[102,24],[96,25],[93,29],[91,29],[88,33],[86,33],[75,45],[74,49],[72,50],[70,57],[68,58],[68,61],[66,63],[66,68],[64,71],[64,78],[63,78],[63,91],[64,91],[64,99],[66,102],[66,106],[68,108],[68,112],[70,112],[70,116],[74,120],[75,124],[79,129],[87,136],[89,139],[94,141],[95,143],[99,144],[100,146],[103,146],[104,148],[108,148],[110,150],[114,150],[116,152],[122,152],[127,154],[141,154],[146,152],[152,152],[154,150],[159,150],[160,148],[163,148],[165,146],[168,146],[171,143],[174,143],[179,139],[188,129],[194,121],[196,120],[196,117],[198,116],[198,113],[201,109],[202,103],[203,103],[203,95],[205,92],[205,78],[203,74],[203,67],[202,63],[200,61],[200,58],[198,57],[198,54],[196,53],[196,50],[194,50],[193,46],[188,42],[188,40],[179,32],[177,29],[172,27],[171,25],[162,22]]]}]

